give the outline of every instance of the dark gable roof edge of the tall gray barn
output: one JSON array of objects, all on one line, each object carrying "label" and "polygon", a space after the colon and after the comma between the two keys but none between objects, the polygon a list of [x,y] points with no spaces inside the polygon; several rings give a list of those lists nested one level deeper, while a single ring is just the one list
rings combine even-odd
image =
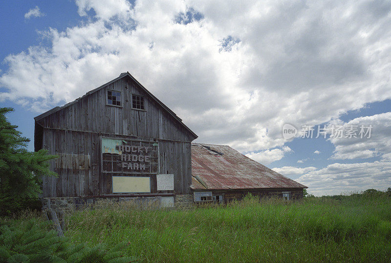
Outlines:
[{"label": "dark gable roof edge of the tall gray barn", "polygon": [[98,87],[98,88],[96,88],[96,89],[93,89],[92,91],[87,92],[86,95],[81,96],[81,97],[75,99],[74,101],[65,104],[64,106],[61,106],[61,107],[57,106],[57,107],[54,107],[53,109],[48,110],[47,112],[44,112],[44,113],[41,114],[41,115],[38,115],[37,117],[34,118],[34,120],[41,120],[41,119],[43,119],[43,118],[45,118],[45,117],[47,117],[47,116],[49,116],[49,115],[51,115],[51,114],[53,114],[53,113],[55,113],[55,112],[58,112],[59,110],[62,110],[62,109],[64,109],[64,108],[66,108],[66,107],[68,107],[68,106],[70,106],[70,105],[72,105],[72,104],[78,102],[80,99],[84,98],[85,96],[89,96],[90,94],[95,93],[95,92],[99,91],[100,89],[103,89],[104,87],[110,85],[111,83],[113,83],[113,82],[115,82],[115,81],[117,81],[117,80],[119,80],[119,79],[121,79],[121,78],[124,78],[124,77],[126,77],[126,76],[130,77],[134,82],[136,82],[137,85],[138,85],[145,93],[147,93],[147,94],[152,98],[153,101],[155,101],[155,102],[156,102],[158,105],[160,105],[164,110],[166,110],[172,117],[174,117],[174,119],[177,120],[182,126],[184,126],[188,132],[190,132],[195,138],[198,138],[198,136],[197,136],[189,127],[187,127],[187,126],[182,122],[182,119],[180,119],[178,116],[176,116],[176,114],[175,114],[169,107],[167,107],[163,102],[161,102],[158,98],[156,98],[155,96],[153,96],[152,93],[149,92],[143,85],[141,85],[140,82],[138,82],[138,81],[137,81],[129,72],[123,72],[123,73],[121,73],[117,78],[114,78],[113,80],[109,81],[108,83],[105,83],[105,84],[103,84],[102,86],[100,86],[100,87]]}]

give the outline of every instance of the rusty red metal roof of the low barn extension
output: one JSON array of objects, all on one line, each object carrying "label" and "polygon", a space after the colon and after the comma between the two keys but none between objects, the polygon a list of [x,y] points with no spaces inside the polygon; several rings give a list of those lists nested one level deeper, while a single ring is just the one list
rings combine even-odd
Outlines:
[{"label": "rusty red metal roof of the low barn extension", "polygon": [[192,143],[194,190],[307,188],[228,145]]}]

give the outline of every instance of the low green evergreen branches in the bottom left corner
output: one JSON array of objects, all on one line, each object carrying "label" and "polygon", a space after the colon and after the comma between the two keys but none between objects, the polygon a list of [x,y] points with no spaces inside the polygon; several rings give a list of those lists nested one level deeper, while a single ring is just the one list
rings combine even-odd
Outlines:
[{"label": "low green evergreen branches in the bottom left corner", "polygon": [[139,259],[125,256],[129,243],[111,249],[101,243],[93,247],[72,244],[56,231],[47,231],[49,222],[30,219],[22,224],[0,221],[0,263],[130,263]]}]

